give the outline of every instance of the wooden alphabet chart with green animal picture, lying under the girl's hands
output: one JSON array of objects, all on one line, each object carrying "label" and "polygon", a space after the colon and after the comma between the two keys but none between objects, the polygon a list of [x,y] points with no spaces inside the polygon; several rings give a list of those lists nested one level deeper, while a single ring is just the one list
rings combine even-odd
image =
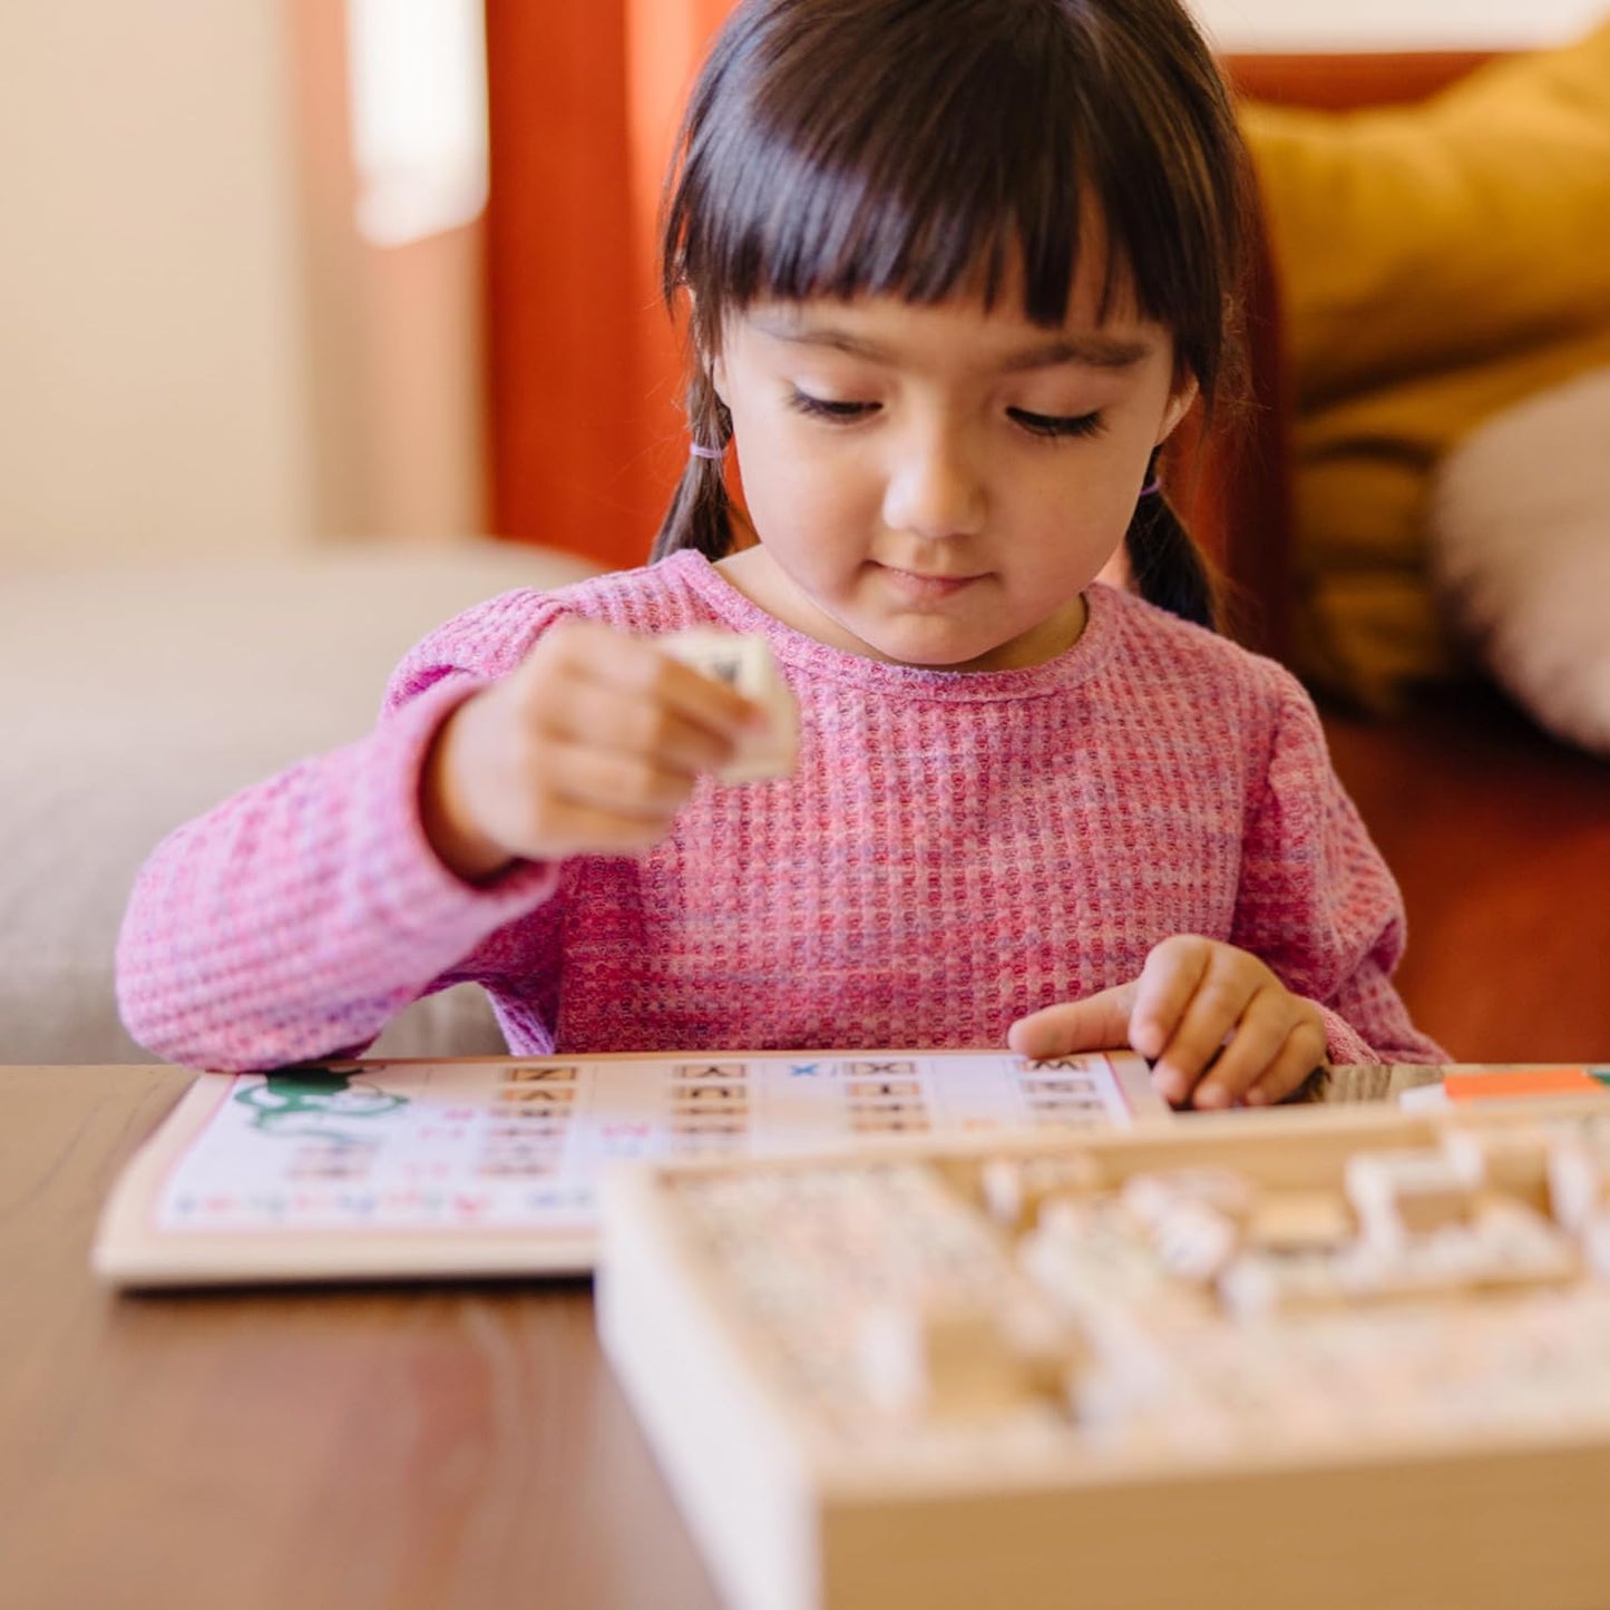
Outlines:
[{"label": "wooden alphabet chart with green animal picture, lying under the girl's hands", "polygon": [[876,1146],[1166,1117],[1129,1053],[697,1053],[354,1061],[203,1074],[119,1182],[95,1267],[126,1285],[591,1269],[630,1158]]}]

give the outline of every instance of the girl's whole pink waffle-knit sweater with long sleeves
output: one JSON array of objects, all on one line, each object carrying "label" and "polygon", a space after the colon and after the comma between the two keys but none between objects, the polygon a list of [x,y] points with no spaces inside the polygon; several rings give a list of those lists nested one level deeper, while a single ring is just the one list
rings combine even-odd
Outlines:
[{"label": "girl's whole pink waffle-knit sweater with long sleeves", "polygon": [[[704,779],[641,858],[469,887],[420,829],[425,749],[564,615],[765,633],[799,768]],[[678,554],[469,610],[407,655],[374,733],[180,828],[135,886],[118,989],[151,1051],[219,1069],[354,1051],[464,979],[525,1055],[982,1046],[1182,932],[1325,1008],[1333,1061],[1441,1059],[1389,984],[1397,889],[1280,667],[1103,586],[1045,665],[882,665]]]}]

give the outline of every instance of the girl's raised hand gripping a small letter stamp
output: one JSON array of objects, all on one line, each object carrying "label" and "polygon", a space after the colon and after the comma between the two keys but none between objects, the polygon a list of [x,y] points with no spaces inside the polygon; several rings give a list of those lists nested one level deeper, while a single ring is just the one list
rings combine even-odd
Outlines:
[{"label": "girl's raised hand gripping a small letter stamp", "polygon": [[515,860],[633,855],[766,721],[652,638],[564,620],[441,724],[420,781],[425,834],[470,882]]}]

